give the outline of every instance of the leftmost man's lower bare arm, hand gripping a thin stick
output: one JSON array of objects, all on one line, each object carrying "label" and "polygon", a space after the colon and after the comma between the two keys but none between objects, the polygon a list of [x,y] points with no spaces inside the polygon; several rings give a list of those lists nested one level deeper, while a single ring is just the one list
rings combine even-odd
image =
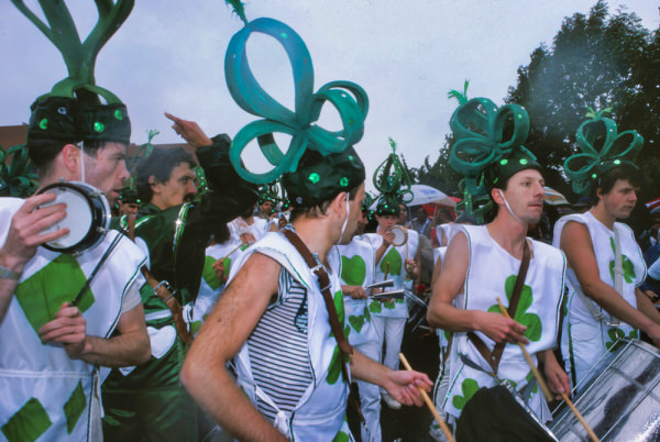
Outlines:
[{"label": "leftmost man's lower bare arm, hand gripping a thin stick", "polygon": [[55,318],[38,329],[44,343],[62,344],[73,360],[106,367],[125,367],[146,362],[151,344],[142,303],[121,314],[119,335],[105,339],[87,334],[87,321],[77,307],[64,302]]}]

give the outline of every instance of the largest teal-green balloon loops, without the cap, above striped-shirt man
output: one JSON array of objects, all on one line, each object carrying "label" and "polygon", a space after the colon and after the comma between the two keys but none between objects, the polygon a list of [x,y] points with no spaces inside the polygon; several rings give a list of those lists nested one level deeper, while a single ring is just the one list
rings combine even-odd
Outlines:
[{"label": "largest teal-green balloon loops, without the cap, above striped-shirt man", "polygon": [[[284,47],[294,74],[295,110],[289,110],[268,95],[252,74],[245,45],[252,33],[272,36]],[[302,38],[289,26],[273,19],[257,19],[235,33],[224,57],[227,86],[234,101],[246,112],[261,117],[234,136],[230,159],[238,174],[255,184],[268,184],[282,174],[295,172],[306,150],[321,155],[343,152],[356,144],[364,133],[369,99],[364,90],[350,81],[331,81],[314,92],[311,56]],[[329,131],[316,124],[326,102],[334,107],[342,130]],[[273,134],[292,137],[286,154]],[[256,140],[264,157],[274,167],[263,174],[250,172],[241,162],[249,143]]]}]

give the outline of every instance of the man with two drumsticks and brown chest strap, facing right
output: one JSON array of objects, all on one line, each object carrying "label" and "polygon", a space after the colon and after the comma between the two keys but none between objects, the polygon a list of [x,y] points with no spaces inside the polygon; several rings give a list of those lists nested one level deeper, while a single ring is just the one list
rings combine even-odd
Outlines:
[{"label": "man with two drumsticks and brown chest strap, facing right", "polygon": [[[517,104],[497,108],[486,98],[474,98],[454,111],[450,126],[455,136],[452,167],[465,176],[466,187],[479,191],[483,183],[497,214],[486,225],[457,226],[433,285],[428,321],[453,332],[457,353],[443,408],[459,418],[480,388],[508,379],[547,421],[546,400],[515,344],[525,344],[544,363],[553,391],[568,391],[568,376],[552,353],[565,264],[557,248],[526,237],[528,225],[540,219],[544,194],[541,167],[522,146],[528,115]],[[514,319],[501,313],[497,298]],[[473,418],[459,420],[458,437],[462,429],[483,430],[482,439],[495,437],[487,419],[482,416],[476,424]],[[462,427],[465,421],[470,423]]]}]

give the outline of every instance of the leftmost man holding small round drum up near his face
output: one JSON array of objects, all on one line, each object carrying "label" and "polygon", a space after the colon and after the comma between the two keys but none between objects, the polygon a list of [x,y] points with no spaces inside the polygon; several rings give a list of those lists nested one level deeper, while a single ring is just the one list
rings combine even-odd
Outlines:
[{"label": "leftmost man holding small round drum up near his face", "polygon": [[[131,133],[125,106],[96,85],[94,65],[133,2],[97,2],[85,42],[63,1],[40,1],[47,24],[13,3],[61,51],[69,76],[31,108],[40,192],[0,198],[0,430],[9,441],[97,441],[107,367],[142,363],[150,349],[140,302],[145,256],[94,216],[109,219],[108,202],[129,176]],[[53,191],[66,203],[53,205]],[[86,219],[95,220],[94,240],[63,247]]]}]

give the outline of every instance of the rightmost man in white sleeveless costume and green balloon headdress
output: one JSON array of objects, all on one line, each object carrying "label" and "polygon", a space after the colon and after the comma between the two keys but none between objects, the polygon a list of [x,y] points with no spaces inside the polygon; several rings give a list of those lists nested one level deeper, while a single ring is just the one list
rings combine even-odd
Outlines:
[{"label": "rightmost man in white sleeveless costume and green balloon headdress", "polygon": [[619,338],[648,334],[660,345],[660,314],[638,286],[646,265],[632,230],[616,220],[630,217],[641,185],[634,161],[644,144],[636,131],[618,133],[616,123],[587,114],[575,134],[582,152],[564,162],[573,190],[588,195],[591,209],[560,218],[553,245],[569,262],[568,314],[562,353],[574,385]]}]

